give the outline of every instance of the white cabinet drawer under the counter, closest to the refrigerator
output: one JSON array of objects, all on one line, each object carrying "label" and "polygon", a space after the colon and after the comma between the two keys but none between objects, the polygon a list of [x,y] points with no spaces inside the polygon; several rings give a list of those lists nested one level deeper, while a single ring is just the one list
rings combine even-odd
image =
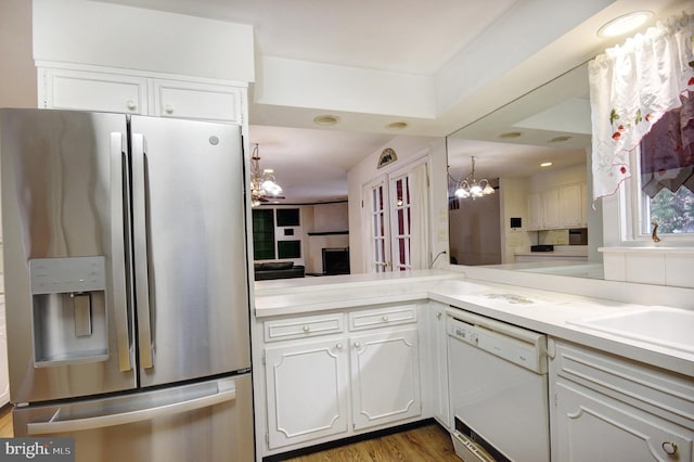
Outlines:
[{"label": "white cabinet drawer under the counter, closest to the refrigerator", "polygon": [[340,313],[266,321],[264,328],[266,342],[337,334],[345,330]]}]

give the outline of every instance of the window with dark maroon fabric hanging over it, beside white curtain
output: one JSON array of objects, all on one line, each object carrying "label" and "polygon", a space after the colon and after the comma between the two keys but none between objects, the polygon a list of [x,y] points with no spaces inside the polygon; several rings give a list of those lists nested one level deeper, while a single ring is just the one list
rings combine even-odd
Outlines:
[{"label": "window with dark maroon fabric hanging over it, beside white curtain", "polygon": [[658,224],[659,234],[694,236],[694,93],[667,112],[638,151],[641,234]]}]

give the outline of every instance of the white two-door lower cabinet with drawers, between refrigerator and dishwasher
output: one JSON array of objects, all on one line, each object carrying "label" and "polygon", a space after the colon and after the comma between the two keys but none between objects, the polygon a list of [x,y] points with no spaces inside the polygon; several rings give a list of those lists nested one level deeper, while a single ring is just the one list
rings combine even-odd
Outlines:
[{"label": "white two-door lower cabinet with drawers, between refrigerator and dishwasher", "polygon": [[265,321],[269,452],[421,415],[416,311],[411,304]]}]

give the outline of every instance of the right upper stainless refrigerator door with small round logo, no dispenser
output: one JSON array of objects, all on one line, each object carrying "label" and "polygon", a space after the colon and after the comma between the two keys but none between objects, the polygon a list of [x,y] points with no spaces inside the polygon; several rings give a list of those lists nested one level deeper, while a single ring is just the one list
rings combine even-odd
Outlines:
[{"label": "right upper stainless refrigerator door with small round logo, no dispenser", "polygon": [[250,367],[237,126],[133,116],[140,383]]}]

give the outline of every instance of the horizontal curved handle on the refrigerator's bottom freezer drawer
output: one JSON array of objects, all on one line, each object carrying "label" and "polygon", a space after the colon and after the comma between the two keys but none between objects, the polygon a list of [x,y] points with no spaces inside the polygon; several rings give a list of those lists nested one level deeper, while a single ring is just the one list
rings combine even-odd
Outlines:
[{"label": "horizontal curved handle on the refrigerator's bottom freezer drawer", "polygon": [[[134,411],[107,415],[99,414],[61,421],[61,410],[59,409],[48,422],[34,422],[27,424],[27,434],[29,436],[50,435],[56,433],[79,432],[85,429],[130,424],[174,414],[181,414],[197,409],[209,408],[215,405],[233,401],[235,399],[236,388],[234,385],[234,381],[220,381],[218,382],[217,393],[215,394],[188,399],[184,401],[172,402],[164,406],[138,409]],[[101,407],[98,408],[102,409]]]}]

